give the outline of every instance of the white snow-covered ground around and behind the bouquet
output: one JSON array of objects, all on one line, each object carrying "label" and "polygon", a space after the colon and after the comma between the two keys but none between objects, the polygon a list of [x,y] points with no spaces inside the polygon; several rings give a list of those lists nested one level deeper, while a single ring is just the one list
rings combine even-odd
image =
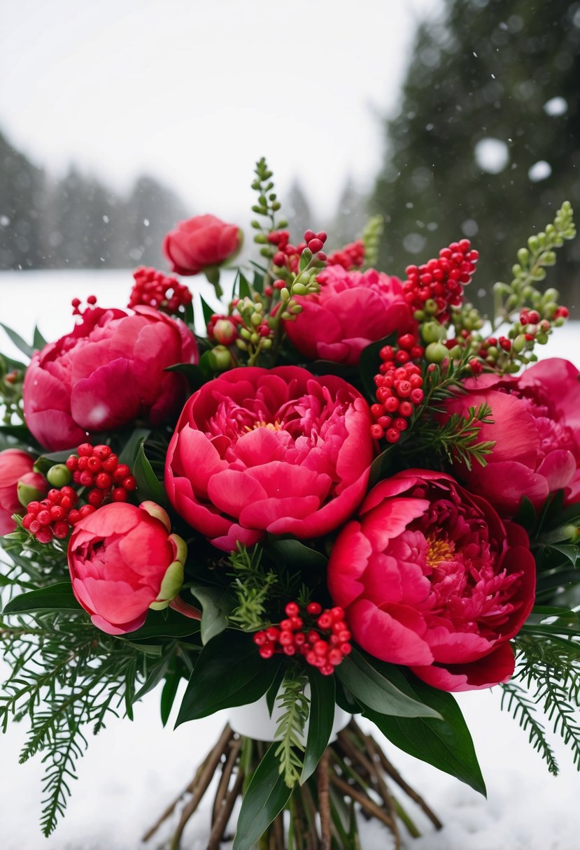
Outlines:
[{"label": "white snow-covered ground around and behind the bouquet", "polygon": [[[71,327],[72,297],[99,296],[122,306],[130,272],[0,273],[0,321],[27,339],[35,323],[54,339]],[[204,286],[204,297],[208,296]],[[14,349],[0,331],[0,350]],[[580,364],[580,329],[571,324],[554,337],[546,354]],[[0,679],[3,668],[0,662]],[[499,710],[498,689],[458,694],[486,779],[488,797],[397,751],[386,750],[403,776],[424,793],[444,822],[435,833],[417,815],[423,837],[406,837],[405,850],[578,850],[580,776],[559,738],[552,736],[560,776],[549,775],[518,724]],[[0,738],[0,847],[2,850],[136,850],[140,836],[162,808],[190,781],[196,763],[219,734],[225,717],[209,717],[178,729],[163,729],[159,694],[136,707],[134,723],[111,718],[98,740],[90,740],[65,819],[45,840],[38,829],[42,765],[37,757],[18,764],[24,724]],[[549,725],[549,723],[546,723]],[[378,736],[380,738],[380,736]],[[414,812],[413,812],[414,814]],[[208,838],[208,808],[185,832],[184,850],[202,850]],[[156,850],[158,842],[150,847]],[[362,850],[389,850],[390,836],[363,824]]]}]

